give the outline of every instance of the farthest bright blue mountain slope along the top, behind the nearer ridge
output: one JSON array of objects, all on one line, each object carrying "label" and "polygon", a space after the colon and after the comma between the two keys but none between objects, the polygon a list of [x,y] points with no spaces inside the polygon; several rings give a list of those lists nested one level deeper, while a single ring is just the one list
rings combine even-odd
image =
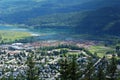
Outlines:
[{"label": "farthest bright blue mountain slope along the top, behind the nearer ridge", "polygon": [[119,0],[1,0],[0,23],[24,24],[30,18],[43,15],[119,5]]}]

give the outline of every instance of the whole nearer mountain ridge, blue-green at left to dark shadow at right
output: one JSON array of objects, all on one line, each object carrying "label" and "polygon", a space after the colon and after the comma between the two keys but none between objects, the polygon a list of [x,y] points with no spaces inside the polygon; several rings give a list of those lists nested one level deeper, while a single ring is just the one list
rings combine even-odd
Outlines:
[{"label": "whole nearer mountain ridge, blue-green at left to dark shadow at right", "polygon": [[120,35],[120,8],[46,15],[30,19],[25,24],[36,27],[69,26],[74,27],[77,33]]}]

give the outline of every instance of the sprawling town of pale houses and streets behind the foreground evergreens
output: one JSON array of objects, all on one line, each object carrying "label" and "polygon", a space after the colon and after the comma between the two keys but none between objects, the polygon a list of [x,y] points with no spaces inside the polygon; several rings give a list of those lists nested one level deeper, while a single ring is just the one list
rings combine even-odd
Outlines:
[{"label": "sprawling town of pale houses and streets behind the foreground evergreens", "polygon": [[[104,69],[110,62],[107,58],[90,53],[87,48],[97,42],[74,42],[74,41],[41,41],[34,43],[13,43],[0,45],[0,79],[1,80],[26,80],[28,65],[26,64],[29,54],[33,54],[35,67],[38,69],[38,80],[56,80],[60,78],[59,61],[64,54],[77,55],[77,63],[81,71],[86,71],[86,65],[92,62],[90,68],[95,68],[97,74],[99,66],[104,62]],[[91,60],[92,59],[92,60]],[[117,72],[120,65],[117,64]],[[80,80],[84,80],[85,74],[81,75]],[[106,76],[110,78],[109,75]],[[23,78],[23,79],[21,79]]]}]

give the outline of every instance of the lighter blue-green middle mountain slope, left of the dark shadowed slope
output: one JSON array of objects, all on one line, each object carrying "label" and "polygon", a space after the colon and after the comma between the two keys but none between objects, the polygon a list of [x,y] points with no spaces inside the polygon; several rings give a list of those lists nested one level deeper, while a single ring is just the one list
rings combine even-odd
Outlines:
[{"label": "lighter blue-green middle mountain slope, left of the dark shadowed slope", "polygon": [[25,22],[29,26],[68,26],[75,27],[86,17],[86,12],[56,13],[31,18]]}]

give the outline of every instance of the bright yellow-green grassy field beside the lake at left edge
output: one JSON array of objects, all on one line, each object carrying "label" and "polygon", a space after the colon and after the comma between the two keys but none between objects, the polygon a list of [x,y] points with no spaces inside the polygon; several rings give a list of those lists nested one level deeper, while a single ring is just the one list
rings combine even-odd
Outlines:
[{"label": "bright yellow-green grassy field beside the lake at left edge", "polygon": [[19,31],[0,31],[0,43],[14,42],[15,40],[24,39],[30,37],[28,32]]}]

